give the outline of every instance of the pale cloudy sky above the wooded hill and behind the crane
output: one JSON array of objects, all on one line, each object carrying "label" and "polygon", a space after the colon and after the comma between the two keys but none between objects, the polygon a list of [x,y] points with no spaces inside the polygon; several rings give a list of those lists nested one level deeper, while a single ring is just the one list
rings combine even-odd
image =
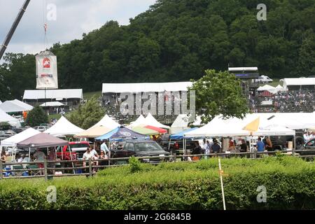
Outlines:
[{"label": "pale cloudy sky above the wooded hill and behind the crane", "polygon": [[[0,0],[0,45],[24,1]],[[98,29],[109,20],[128,25],[130,18],[154,3],[155,0],[31,0],[6,52],[35,54],[53,43],[80,39],[83,33]]]}]

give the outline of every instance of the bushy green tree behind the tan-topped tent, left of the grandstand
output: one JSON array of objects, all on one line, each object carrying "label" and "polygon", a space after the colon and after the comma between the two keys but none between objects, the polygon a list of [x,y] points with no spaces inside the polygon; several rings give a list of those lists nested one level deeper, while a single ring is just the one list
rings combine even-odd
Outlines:
[{"label": "bushy green tree behind the tan-topped tent, left of the grandstand", "polygon": [[95,125],[105,114],[104,108],[99,104],[97,97],[92,97],[85,104],[81,104],[75,111],[66,114],[66,118],[83,129]]}]

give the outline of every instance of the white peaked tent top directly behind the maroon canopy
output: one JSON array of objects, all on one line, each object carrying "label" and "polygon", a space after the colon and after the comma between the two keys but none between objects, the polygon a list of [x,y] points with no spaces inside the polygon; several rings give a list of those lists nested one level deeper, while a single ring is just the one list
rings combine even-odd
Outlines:
[{"label": "white peaked tent top directly behind the maroon canopy", "polygon": [[74,135],[83,131],[82,128],[73,125],[73,123],[62,116],[55,125],[52,125],[48,130],[45,130],[44,133],[58,137],[62,135]]}]

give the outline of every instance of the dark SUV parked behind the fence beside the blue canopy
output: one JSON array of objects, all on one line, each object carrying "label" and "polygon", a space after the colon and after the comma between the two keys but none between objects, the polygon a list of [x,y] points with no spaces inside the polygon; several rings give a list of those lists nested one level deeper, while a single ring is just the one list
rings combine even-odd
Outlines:
[{"label": "dark SUV parked behind the fence beside the blue canopy", "polygon": [[169,158],[164,158],[167,155],[171,153],[164,151],[158,143],[151,140],[129,140],[125,141],[123,148],[111,149],[111,158],[160,156],[160,158],[141,159],[141,162],[148,163],[169,161]]}]

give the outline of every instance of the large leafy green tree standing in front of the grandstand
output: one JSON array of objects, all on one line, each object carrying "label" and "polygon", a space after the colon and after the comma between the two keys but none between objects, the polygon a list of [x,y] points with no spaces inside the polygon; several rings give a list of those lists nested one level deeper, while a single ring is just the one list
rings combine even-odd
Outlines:
[{"label": "large leafy green tree standing in front of the grandstand", "polygon": [[241,94],[241,83],[228,71],[206,70],[206,75],[193,80],[189,90],[196,93],[196,114],[209,123],[222,114],[224,118],[243,118],[248,112],[246,98]]}]

